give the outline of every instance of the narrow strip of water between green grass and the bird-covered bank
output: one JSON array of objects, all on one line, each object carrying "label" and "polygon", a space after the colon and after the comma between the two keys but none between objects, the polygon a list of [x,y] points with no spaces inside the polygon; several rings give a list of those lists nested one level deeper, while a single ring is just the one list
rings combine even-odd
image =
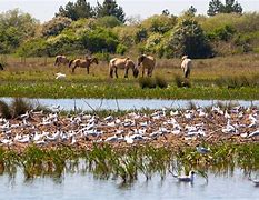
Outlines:
[{"label": "narrow strip of water between green grass and the bird-covered bank", "polygon": [[[11,98],[0,98],[11,102]],[[162,108],[186,108],[190,102],[196,106],[208,107],[218,102],[218,100],[161,100],[161,99],[30,99],[32,102],[51,107],[60,106],[63,110],[82,109],[86,111],[94,110],[132,110],[132,109],[162,109]],[[259,106],[257,101],[231,100],[220,101],[222,103],[236,103],[243,107]]]}]

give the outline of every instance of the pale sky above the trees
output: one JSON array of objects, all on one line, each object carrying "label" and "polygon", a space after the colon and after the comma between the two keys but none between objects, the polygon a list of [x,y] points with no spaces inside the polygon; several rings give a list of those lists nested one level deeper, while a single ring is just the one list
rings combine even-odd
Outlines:
[{"label": "pale sky above the trees", "polygon": [[[69,1],[76,2],[76,0],[0,0],[0,12],[19,8],[44,22],[52,19],[59,7],[64,7]],[[87,0],[91,6],[96,6],[97,1],[103,2],[103,0]],[[198,13],[206,14],[209,2],[210,0],[117,0],[126,12],[126,17],[139,17],[140,19],[160,14],[165,9],[179,16],[190,6],[193,6]],[[241,3],[245,12],[259,11],[259,0],[238,0],[238,2]]]}]

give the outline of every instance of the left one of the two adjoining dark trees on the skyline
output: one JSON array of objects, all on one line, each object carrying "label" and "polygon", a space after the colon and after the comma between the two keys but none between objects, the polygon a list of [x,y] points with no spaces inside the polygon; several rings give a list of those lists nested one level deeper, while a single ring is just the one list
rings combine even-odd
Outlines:
[{"label": "left one of the two adjoining dark trees on the skyline", "polygon": [[59,8],[59,12],[56,13],[56,17],[59,16],[77,21],[80,18],[92,18],[94,16],[94,11],[86,0],[77,0],[76,3],[69,1],[64,8],[61,6]]}]

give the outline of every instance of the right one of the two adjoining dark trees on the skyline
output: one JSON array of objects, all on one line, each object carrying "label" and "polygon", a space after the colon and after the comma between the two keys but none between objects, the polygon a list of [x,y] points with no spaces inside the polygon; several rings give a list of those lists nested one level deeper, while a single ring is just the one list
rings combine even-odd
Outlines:
[{"label": "right one of the two adjoining dark trees on the skyline", "polygon": [[104,16],[114,16],[122,23],[126,21],[124,11],[117,4],[116,0],[104,0],[102,4],[97,2],[96,13],[98,18],[102,18]]}]

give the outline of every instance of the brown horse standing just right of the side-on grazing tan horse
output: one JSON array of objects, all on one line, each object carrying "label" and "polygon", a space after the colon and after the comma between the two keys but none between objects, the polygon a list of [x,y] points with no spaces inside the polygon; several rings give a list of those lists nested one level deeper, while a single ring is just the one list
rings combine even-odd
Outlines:
[{"label": "brown horse standing just right of the side-on grazing tan horse", "polygon": [[156,66],[156,59],[151,56],[141,54],[138,58],[138,68],[140,68],[141,66],[142,66],[142,77],[145,76],[146,69],[148,70],[147,76],[151,77]]}]

